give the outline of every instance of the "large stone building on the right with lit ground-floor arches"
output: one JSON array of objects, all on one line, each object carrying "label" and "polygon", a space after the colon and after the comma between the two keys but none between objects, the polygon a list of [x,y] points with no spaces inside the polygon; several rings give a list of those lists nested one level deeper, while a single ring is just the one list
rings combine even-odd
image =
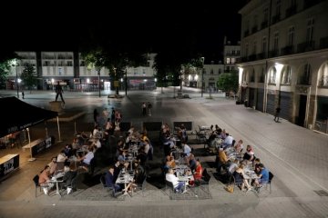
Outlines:
[{"label": "large stone building on the right with lit ground-floor arches", "polygon": [[328,133],[328,1],[251,0],[240,10],[245,106]]}]

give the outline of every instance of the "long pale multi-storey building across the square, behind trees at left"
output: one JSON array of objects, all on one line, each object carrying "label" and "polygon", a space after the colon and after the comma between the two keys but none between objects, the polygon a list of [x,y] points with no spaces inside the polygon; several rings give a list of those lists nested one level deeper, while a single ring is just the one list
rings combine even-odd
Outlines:
[{"label": "long pale multi-storey building across the square, behind trees at left", "polygon": [[[24,70],[24,64],[32,64],[39,80],[36,89],[50,90],[57,81],[70,91],[98,91],[110,89],[109,71],[102,67],[98,74],[95,67],[87,66],[81,54],[74,52],[16,52],[21,59],[13,66],[8,76],[7,88],[15,89],[16,74]],[[156,54],[147,54],[148,64],[126,69],[128,89],[153,89],[156,72],[152,68]],[[119,88],[123,89],[125,78],[118,79]],[[100,81],[100,83],[99,83]],[[18,80],[19,82],[19,80]],[[24,84],[20,85],[21,87]]]}]

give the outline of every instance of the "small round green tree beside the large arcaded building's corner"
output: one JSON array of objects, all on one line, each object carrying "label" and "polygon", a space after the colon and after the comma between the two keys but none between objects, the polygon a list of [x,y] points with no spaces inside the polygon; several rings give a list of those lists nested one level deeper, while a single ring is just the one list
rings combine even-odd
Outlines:
[{"label": "small round green tree beside the large arcaded building's corner", "polygon": [[233,91],[236,93],[238,91],[238,72],[220,74],[217,87],[223,92]]}]

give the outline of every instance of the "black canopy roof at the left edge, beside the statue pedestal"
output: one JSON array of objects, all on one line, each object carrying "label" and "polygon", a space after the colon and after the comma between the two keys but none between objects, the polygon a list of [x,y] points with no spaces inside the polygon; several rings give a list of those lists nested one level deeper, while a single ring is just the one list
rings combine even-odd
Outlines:
[{"label": "black canopy roof at the left edge, beside the statue pedestal", "polygon": [[16,97],[0,98],[0,137],[58,116],[57,112],[27,104]]}]

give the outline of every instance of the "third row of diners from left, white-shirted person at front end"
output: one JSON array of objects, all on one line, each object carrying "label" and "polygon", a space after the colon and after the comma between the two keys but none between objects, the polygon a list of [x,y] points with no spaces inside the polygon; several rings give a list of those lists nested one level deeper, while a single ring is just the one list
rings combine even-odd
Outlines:
[{"label": "third row of diners from left, white-shirted person at front end", "polygon": [[165,160],[162,166],[166,183],[171,183],[175,193],[188,193],[187,186],[199,185],[203,168],[200,159],[196,159],[187,144],[188,134],[181,124],[171,133],[169,124],[163,124],[160,131]]}]

